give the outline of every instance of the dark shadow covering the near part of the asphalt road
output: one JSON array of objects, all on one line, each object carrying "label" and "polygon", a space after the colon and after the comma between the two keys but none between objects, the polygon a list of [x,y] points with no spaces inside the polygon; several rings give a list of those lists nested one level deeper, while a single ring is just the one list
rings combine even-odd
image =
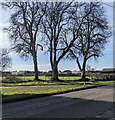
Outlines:
[{"label": "dark shadow covering the near part of the asphalt road", "polygon": [[[77,95],[77,94],[76,94]],[[35,97],[35,95],[33,95]],[[40,97],[37,96],[36,97]],[[109,120],[113,116],[113,104],[109,100],[54,95],[2,105],[3,120],[13,119],[80,119]]]}]

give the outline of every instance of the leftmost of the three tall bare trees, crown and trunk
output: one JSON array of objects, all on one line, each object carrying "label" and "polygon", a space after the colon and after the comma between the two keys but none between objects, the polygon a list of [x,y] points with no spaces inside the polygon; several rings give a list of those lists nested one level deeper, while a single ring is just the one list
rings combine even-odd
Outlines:
[{"label": "leftmost of the three tall bare trees, crown and trunk", "polygon": [[8,2],[4,6],[11,9],[10,36],[12,50],[27,60],[33,58],[35,80],[38,80],[37,48],[43,47],[38,42],[39,26],[45,14],[46,3],[41,2]]}]

